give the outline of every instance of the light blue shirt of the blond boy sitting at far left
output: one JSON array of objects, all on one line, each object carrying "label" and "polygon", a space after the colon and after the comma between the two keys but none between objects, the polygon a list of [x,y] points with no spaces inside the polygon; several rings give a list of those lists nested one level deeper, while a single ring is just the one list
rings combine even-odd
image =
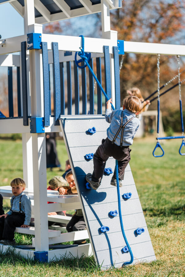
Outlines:
[{"label": "light blue shirt of the blond boy sitting at far left", "polygon": [[[21,197],[21,195],[23,195]],[[30,220],[31,220],[31,200],[29,199],[29,197],[24,194],[23,192],[21,192],[21,194],[19,194],[18,196],[12,196],[10,203],[12,205],[12,201],[13,201],[13,205],[12,205],[12,211],[15,212],[19,212],[19,201],[21,198],[21,211],[23,211],[23,213],[25,213],[25,219],[24,219],[24,224],[25,225],[29,225],[30,224]],[[12,211],[8,211],[7,214],[8,215],[12,215]]]}]

